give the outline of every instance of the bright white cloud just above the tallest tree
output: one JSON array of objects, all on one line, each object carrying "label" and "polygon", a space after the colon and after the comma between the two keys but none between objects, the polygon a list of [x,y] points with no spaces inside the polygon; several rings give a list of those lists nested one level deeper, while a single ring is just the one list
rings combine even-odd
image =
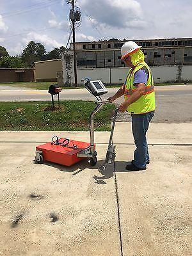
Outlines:
[{"label": "bright white cloud just above the tallest tree", "polygon": [[60,48],[63,44],[60,44],[55,39],[50,38],[47,35],[38,34],[36,32],[30,32],[26,38],[22,39],[22,42],[25,42],[26,44],[29,43],[29,41],[34,40],[36,42],[40,42],[42,44],[45,44],[45,46],[48,47],[58,47]]}]

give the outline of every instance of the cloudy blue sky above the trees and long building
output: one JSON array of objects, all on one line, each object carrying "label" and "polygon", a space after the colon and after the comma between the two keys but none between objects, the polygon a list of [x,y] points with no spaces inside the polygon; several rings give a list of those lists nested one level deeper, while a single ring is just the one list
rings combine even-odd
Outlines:
[{"label": "cloudy blue sky above the trees and long building", "polygon": [[[77,42],[192,37],[192,0],[76,0],[76,6]],[[66,0],[0,0],[0,45],[10,56],[31,40],[47,52],[66,46],[70,8]]]}]

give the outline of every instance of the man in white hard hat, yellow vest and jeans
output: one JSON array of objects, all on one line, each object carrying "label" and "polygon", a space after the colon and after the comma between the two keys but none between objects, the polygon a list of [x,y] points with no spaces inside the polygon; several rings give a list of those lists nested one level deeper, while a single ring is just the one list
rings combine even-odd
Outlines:
[{"label": "man in white hard hat, yellow vest and jeans", "polygon": [[109,98],[113,102],[124,95],[125,100],[120,104],[119,111],[131,113],[136,150],[134,160],[126,166],[129,171],[146,170],[146,165],[150,162],[146,133],[156,108],[154,79],[140,48],[132,41],[122,46],[122,60],[130,69],[124,86]]}]

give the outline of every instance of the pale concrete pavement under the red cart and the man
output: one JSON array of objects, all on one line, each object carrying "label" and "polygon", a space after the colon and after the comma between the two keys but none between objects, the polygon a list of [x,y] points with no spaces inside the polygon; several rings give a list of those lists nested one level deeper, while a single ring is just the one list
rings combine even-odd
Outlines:
[{"label": "pale concrete pavement under the red cart and the man", "polygon": [[0,132],[0,255],[191,255],[192,124],[150,124],[147,171],[125,172],[131,124],[116,123],[116,170],[104,176],[109,132],[95,132],[94,167],[33,163],[54,134],[89,141],[89,132]]}]

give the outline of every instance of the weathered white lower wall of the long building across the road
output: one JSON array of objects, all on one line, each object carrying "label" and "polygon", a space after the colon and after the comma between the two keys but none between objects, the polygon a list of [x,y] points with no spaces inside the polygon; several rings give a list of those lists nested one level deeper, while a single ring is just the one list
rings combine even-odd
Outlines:
[{"label": "weathered white lower wall of the long building across the road", "polygon": [[[70,55],[71,63],[67,65],[64,58],[63,63],[63,81],[66,85],[68,80],[70,84],[74,83],[74,65],[72,52],[68,52]],[[192,81],[192,65],[177,65],[177,66],[154,66],[151,67],[152,74],[154,76],[154,83],[175,83],[175,82],[189,82]],[[116,68],[77,68],[77,83],[83,84],[85,77],[91,79],[100,79],[106,84],[123,84],[129,68],[116,67]],[[67,78],[70,77],[70,79]]]}]

